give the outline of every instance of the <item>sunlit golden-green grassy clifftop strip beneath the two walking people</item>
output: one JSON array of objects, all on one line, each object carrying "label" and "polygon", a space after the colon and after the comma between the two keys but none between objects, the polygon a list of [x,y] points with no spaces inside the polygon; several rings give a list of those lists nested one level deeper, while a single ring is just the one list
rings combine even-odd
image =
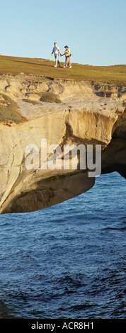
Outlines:
[{"label": "sunlit golden-green grassy clifftop strip beneath the two walking people", "polygon": [[[72,61],[72,58],[71,58]],[[0,74],[34,74],[50,77],[52,79],[67,79],[74,81],[93,81],[99,83],[125,85],[126,64],[115,66],[88,66],[83,64],[71,64],[72,68],[54,67],[55,61],[39,60],[23,57],[0,56]]]}]

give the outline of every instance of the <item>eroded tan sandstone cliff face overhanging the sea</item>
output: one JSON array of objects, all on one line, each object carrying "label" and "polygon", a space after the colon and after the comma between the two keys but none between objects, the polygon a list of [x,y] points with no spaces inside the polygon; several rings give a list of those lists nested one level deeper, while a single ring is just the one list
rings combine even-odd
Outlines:
[{"label": "eroded tan sandstone cliff face overhanging the sea", "polygon": [[[38,96],[43,89],[57,91],[62,103],[40,102]],[[87,163],[80,169],[79,155],[77,169],[64,169],[64,145],[84,145],[86,148],[93,145],[93,149],[101,145],[101,172],[118,171],[126,178],[126,111],[121,94],[108,98],[98,96],[95,88],[86,82],[77,84],[48,79],[40,83],[35,78],[31,81],[30,77],[20,76],[2,79],[0,91],[11,96],[27,118],[25,123],[13,123],[9,127],[0,123],[1,214],[47,208],[93,186],[95,176],[88,176]],[[28,97],[31,100],[31,94],[37,96],[38,104],[23,101]],[[47,158],[41,156],[41,140],[44,139],[47,140]],[[25,152],[28,145],[38,147],[37,169],[25,166],[30,154]],[[50,169],[48,164],[47,168],[42,168],[42,163],[50,161],[54,155],[55,149],[48,151],[50,145],[61,148],[57,158],[60,168]]]}]

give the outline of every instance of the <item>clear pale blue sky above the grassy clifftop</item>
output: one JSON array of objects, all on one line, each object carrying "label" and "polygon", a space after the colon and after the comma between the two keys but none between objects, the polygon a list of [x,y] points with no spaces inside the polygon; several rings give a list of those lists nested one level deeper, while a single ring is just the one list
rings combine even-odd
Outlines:
[{"label": "clear pale blue sky above the grassy clifftop", "polygon": [[1,1],[0,31],[1,55],[51,59],[57,42],[71,62],[126,64],[125,0]]}]

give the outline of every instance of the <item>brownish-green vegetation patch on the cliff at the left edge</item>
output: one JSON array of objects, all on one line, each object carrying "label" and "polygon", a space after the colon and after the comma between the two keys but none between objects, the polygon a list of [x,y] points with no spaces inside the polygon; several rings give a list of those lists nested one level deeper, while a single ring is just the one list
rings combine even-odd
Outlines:
[{"label": "brownish-green vegetation patch on the cliff at the left edge", "polygon": [[18,105],[5,94],[0,94],[0,122],[11,125],[22,123],[26,119],[18,112]]}]

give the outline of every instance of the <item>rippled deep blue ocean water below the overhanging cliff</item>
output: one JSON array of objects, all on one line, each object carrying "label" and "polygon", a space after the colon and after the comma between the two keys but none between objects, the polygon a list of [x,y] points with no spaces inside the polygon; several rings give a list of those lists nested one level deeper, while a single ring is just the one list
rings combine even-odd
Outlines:
[{"label": "rippled deep blue ocean water below the overhanging cliff", "polygon": [[125,179],[35,213],[0,215],[0,318],[124,319]]}]

